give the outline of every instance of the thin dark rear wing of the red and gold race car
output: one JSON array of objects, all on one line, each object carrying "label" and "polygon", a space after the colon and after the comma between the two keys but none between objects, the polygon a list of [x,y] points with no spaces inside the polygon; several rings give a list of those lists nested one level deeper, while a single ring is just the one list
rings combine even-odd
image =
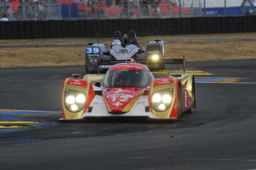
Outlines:
[{"label": "thin dark rear wing of the red and gold race car", "polygon": [[99,65],[114,65],[119,63],[139,63],[139,64],[145,64],[145,65],[151,65],[151,64],[183,64],[183,72],[186,72],[186,64],[185,64],[185,56],[183,56],[182,59],[160,59],[157,61],[154,60],[136,60],[133,59],[127,59],[127,60],[116,60],[116,61],[98,61]]}]

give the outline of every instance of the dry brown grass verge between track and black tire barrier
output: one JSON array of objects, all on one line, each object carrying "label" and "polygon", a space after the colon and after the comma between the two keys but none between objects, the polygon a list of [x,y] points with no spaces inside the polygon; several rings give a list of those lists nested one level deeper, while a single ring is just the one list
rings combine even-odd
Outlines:
[{"label": "dry brown grass verge between track and black tire barrier", "polygon": [[[147,41],[155,37],[138,38],[145,46]],[[256,59],[256,33],[176,35],[158,38],[166,41],[166,58],[181,58],[185,55],[187,61]],[[209,41],[211,38],[222,41]],[[236,38],[240,38],[239,41]],[[184,41],[188,39],[194,40]],[[0,68],[84,65],[84,52],[88,41],[96,42],[97,40],[96,38],[1,40]],[[100,39],[100,42],[105,41],[111,41],[111,38]],[[72,45],[67,46],[67,44]],[[5,47],[12,45],[32,45],[33,47]],[[51,47],[50,45],[58,46]]]}]

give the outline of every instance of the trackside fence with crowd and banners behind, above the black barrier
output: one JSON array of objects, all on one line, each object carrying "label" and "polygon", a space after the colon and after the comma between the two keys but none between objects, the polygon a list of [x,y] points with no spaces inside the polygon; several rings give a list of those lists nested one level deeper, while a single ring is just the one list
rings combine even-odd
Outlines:
[{"label": "trackside fence with crowd and banners behind, above the black barrier", "polygon": [[27,4],[24,4],[24,1],[2,1],[0,3],[1,16],[7,13],[10,21],[17,21],[256,14],[252,0],[41,0]]}]

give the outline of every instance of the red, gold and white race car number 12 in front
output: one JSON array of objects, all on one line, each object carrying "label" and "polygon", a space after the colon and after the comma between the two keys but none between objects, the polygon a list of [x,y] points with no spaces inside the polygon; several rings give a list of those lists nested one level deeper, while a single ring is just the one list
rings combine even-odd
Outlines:
[{"label": "red, gold and white race car number 12 in front", "polygon": [[158,79],[145,65],[154,61],[143,62],[99,61],[114,65],[105,75],[67,78],[59,120],[105,117],[177,120],[183,112],[192,112],[196,107],[194,75],[185,72],[184,59],[158,61],[157,64],[184,66],[184,72]]}]

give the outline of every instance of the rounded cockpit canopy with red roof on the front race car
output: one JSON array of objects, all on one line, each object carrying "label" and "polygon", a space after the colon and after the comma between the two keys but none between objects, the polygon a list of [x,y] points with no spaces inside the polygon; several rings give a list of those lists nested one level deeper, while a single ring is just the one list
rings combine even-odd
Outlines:
[{"label": "rounded cockpit canopy with red roof on the front race car", "polygon": [[116,64],[108,69],[102,86],[145,88],[150,86],[153,80],[152,73],[142,64]]}]

